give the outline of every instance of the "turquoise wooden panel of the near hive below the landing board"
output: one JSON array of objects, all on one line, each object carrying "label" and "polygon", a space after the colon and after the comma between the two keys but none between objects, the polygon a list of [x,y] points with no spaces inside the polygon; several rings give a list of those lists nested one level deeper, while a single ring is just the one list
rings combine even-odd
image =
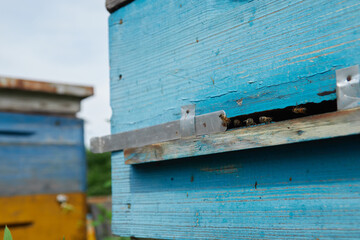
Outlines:
[{"label": "turquoise wooden panel of the near hive below the landing board", "polygon": [[125,165],[113,232],[159,239],[358,239],[360,135]]}]

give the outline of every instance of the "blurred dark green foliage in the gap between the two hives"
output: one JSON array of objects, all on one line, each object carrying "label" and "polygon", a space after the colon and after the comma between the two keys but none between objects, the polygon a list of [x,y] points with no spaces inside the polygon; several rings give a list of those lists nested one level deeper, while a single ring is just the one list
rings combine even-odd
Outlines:
[{"label": "blurred dark green foliage in the gap between the two hives", "polygon": [[86,151],[87,195],[111,195],[111,153]]}]

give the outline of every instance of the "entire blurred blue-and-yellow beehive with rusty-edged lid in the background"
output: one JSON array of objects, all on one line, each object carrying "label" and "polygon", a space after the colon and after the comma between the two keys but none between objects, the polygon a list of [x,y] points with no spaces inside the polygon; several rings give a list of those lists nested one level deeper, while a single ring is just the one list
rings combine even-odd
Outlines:
[{"label": "entire blurred blue-and-yellow beehive with rusty-edged lid in the background", "polygon": [[14,239],[86,239],[81,99],[92,87],[0,77],[0,225]]}]

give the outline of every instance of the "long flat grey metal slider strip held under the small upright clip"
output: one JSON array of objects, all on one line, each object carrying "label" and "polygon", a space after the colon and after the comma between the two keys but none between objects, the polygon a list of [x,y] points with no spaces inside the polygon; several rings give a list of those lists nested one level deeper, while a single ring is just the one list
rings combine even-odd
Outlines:
[{"label": "long flat grey metal slider strip held under the small upright clip", "polygon": [[[223,123],[221,115],[225,115],[225,112],[217,111],[195,116],[194,135],[199,136],[226,131],[227,126]],[[154,143],[180,139],[184,137],[180,134],[180,121],[181,120],[177,120],[134,131],[92,138],[90,141],[90,149],[93,153],[114,152],[127,148],[142,147]]]}]

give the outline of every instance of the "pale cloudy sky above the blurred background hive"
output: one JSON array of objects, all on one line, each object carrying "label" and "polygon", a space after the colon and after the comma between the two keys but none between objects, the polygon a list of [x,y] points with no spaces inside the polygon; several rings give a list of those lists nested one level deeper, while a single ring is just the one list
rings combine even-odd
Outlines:
[{"label": "pale cloudy sky above the blurred background hive", "polygon": [[91,85],[83,101],[86,145],[109,134],[105,0],[0,0],[0,75]]}]

